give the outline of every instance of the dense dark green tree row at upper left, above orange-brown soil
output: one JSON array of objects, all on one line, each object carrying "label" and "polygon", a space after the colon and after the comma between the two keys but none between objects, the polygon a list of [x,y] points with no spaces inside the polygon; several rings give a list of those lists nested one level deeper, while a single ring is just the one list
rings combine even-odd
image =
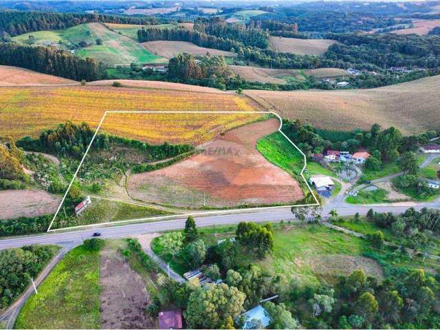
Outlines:
[{"label": "dense dark green tree row at upper left, above orange-brown soil", "polygon": [[105,78],[102,64],[92,58],[80,58],[54,47],[0,43],[0,64],[25,67],[43,74],[52,74],[73,80]]}]

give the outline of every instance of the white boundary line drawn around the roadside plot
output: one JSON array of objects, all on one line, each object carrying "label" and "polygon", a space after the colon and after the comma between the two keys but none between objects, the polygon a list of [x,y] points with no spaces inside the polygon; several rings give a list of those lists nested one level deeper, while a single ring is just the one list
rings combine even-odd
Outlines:
[{"label": "white boundary line drawn around the roadside plot", "polygon": [[[285,206],[262,206],[259,208],[234,208],[234,209],[230,209],[230,210],[212,210],[212,211],[206,211],[206,212],[192,212],[192,213],[185,213],[185,214],[173,214],[173,215],[164,215],[162,217],[149,217],[149,218],[141,218],[141,219],[130,219],[130,220],[121,220],[121,221],[110,221],[110,222],[103,222],[103,223],[92,223],[90,225],[76,225],[73,227],[66,227],[66,228],[57,228],[57,229],[50,229],[52,228],[52,224],[55,221],[56,216],[58,215],[58,212],[60,212],[61,210],[61,206],[63,205],[66,197],[67,197],[67,192],[69,192],[70,188],[72,187],[72,184],[74,184],[74,181],[76,179],[76,175],[78,175],[78,172],[80,170],[80,167],[83,165],[84,159],[87,156],[87,153],[89,152],[89,149],[91,148],[91,145],[94,143],[95,137],[98,134],[99,129],[102,126],[102,122],[104,122],[104,118],[107,116],[107,113],[252,113],[252,114],[256,114],[256,113],[261,113],[261,114],[268,114],[268,113],[272,113],[272,115],[276,115],[276,117],[278,118],[278,120],[280,120],[280,126],[278,127],[278,132],[280,132],[286,139],[287,141],[289,141],[295,148],[296,150],[298,150],[301,155],[303,155],[304,157],[304,166],[303,169],[300,172],[301,177],[303,177],[303,180],[305,181],[305,184],[307,185],[307,188],[309,188],[309,191],[311,193],[311,195],[314,197],[316,203],[314,204],[301,204],[301,205],[285,205]],[[102,118],[98,124],[98,127],[96,128],[96,131],[94,133],[94,136],[91,138],[91,141],[89,143],[89,146],[87,146],[87,150],[85,151],[85,154],[83,156],[83,159],[81,159],[80,164],[78,165],[78,168],[76,169],[76,172],[74,174],[74,176],[72,177],[72,181],[70,181],[69,187],[67,187],[67,190],[64,194],[63,199],[61,200],[60,205],[58,206],[58,209],[56,210],[56,213],[54,214],[54,217],[52,219],[52,221],[50,222],[49,228],[47,228],[47,232],[56,232],[59,230],[71,230],[71,229],[77,229],[77,228],[85,228],[85,227],[91,227],[91,226],[102,226],[102,225],[113,225],[113,224],[118,224],[118,223],[126,223],[126,222],[135,222],[135,221],[144,221],[144,220],[159,220],[159,219],[170,219],[170,218],[175,218],[175,217],[186,217],[188,215],[193,215],[193,216],[197,216],[197,215],[206,215],[206,214],[216,214],[216,213],[234,213],[234,212],[243,212],[243,211],[252,211],[252,210],[266,210],[266,209],[271,209],[271,208],[292,208],[292,207],[303,207],[303,206],[320,206],[320,203],[318,201],[318,199],[316,199],[316,196],[314,194],[314,192],[311,190],[309,183],[307,182],[307,180],[304,177],[304,170],[307,167],[307,157],[305,155],[305,153],[303,153],[303,151],[300,150],[300,148],[298,148],[298,146],[296,146],[296,144],[294,144],[294,142],[292,142],[292,140],[289,139],[289,137],[287,137],[287,135],[285,135],[285,133],[283,133],[283,131],[281,131],[281,129],[283,128],[283,118],[281,118],[280,115],[278,115],[278,113],[275,113],[273,111],[116,111],[116,110],[112,110],[112,111],[105,111],[104,115],[102,115]]]}]

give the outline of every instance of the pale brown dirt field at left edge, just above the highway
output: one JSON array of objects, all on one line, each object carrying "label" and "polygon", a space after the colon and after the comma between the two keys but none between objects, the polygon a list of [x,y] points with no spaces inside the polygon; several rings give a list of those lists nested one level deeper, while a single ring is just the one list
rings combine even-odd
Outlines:
[{"label": "pale brown dirt field at left edge, just above the highway", "polygon": [[54,214],[61,197],[43,190],[1,190],[0,220]]}]

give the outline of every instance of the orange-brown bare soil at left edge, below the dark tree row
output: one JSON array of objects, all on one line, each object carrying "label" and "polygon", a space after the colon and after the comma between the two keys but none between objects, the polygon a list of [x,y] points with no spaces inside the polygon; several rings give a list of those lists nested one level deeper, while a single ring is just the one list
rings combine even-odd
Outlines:
[{"label": "orange-brown bare soil at left edge, below the dark tree row", "polygon": [[18,86],[18,85],[58,85],[74,84],[76,81],[51,76],[50,74],[41,74],[22,67],[10,67],[0,65],[0,87]]}]

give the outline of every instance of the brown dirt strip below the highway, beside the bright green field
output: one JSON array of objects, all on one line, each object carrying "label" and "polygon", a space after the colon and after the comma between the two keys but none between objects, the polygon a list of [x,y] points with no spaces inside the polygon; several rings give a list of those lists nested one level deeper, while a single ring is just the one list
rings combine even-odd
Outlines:
[{"label": "brown dirt strip below the highway, beside the bright green field", "polygon": [[107,241],[99,259],[100,325],[102,329],[155,329],[147,316],[148,292],[142,277],[122,259],[118,244]]}]

